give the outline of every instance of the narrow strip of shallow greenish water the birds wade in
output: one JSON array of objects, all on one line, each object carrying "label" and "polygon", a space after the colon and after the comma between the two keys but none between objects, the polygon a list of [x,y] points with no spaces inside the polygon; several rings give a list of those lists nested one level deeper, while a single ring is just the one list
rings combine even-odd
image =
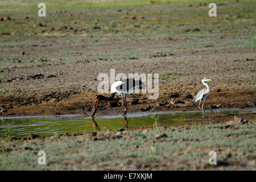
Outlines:
[{"label": "narrow strip of shallow greenish water the birds wade in", "polygon": [[[254,109],[214,109],[205,111],[206,115],[212,114],[240,114],[256,113]],[[201,117],[201,111],[168,111],[155,113],[136,113],[127,114],[128,127],[152,126],[155,119],[151,115],[155,114],[158,118],[157,124],[174,125],[188,122],[197,122],[193,117]],[[211,118],[212,119],[212,118]],[[213,118],[214,119],[214,118]],[[220,119],[220,118],[217,118]],[[222,118],[230,119],[230,118]],[[97,126],[96,127],[96,123]],[[63,133],[79,133],[84,131],[118,130],[125,128],[125,119],[122,115],[106,115],[96,117],[94,122],[90,117],[84,115],[53,115],[53,116],[28,116],[28,117],[0,117],[0,137],[4,137],[8,130],[9,136],[26,136],[29,134],[50,135]]]}]

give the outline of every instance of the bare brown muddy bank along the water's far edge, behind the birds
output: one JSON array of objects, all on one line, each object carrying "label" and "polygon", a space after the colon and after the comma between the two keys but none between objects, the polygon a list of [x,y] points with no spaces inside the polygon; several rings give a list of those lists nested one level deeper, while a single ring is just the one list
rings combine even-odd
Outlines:
[{"label": "bare brown muddy bank along the water's far edge, behind the birds", "polygon": [[[203,86],[196,89],[184,87],[160,88],[157,100],[148,100],[147,94],[127,96],[128,113],[143,111],[183,111],[197,110],[192,104],[192,96]],[[205,101],[205,109],[246,108],[255,107],[255,89],[239,87],[211,88],[210,97]],[[36,93],[34,96],[15,94],[0,96],[1,117],[22,115],[57,115],[84,114],[89,115],[97,96],[95,92],[76,91]],[[119,96],[112,102],[102,101],[97,115],[122,114],[123,103]]]}]

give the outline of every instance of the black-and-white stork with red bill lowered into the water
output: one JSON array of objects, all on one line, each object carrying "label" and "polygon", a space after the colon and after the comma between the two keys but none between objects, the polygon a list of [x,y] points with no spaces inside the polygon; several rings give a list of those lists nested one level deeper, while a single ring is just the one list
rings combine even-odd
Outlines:
[{"label": "black-and-white stork with red bill lowered into the water", "polygon": [[109,97],[105,97],[102,95],[98,95],[96,97],[96,100],[94,102],[94,106],[91,112],[92,117],[94,117],[98,109],[98,105],[100,104],[100,101],[112,101],[115,94],[117,93],[123,99],[123,105],[125,107],[125,113],[123,113],[123,116],[126,118],[126,111],[127,111],[126,96],[128,94],[133,93],[133,90],[136,88],[145,89],[146,86],[141,80],[134,80],[134,78],[127,78],[125,80],[114,82],[111,86],[111,89],[110,89],[111,95]]}]

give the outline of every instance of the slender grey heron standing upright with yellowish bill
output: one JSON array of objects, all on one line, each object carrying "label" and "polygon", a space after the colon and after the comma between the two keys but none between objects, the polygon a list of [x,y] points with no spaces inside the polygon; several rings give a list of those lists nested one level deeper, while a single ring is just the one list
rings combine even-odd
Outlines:
[{"label": "slender grey heron standing upright with yellowish bill", "polygon": [[[207,79],[207,78],[203,78],[201,81],[203,82],[203,84],[204,84],[205,86],[207,86],[207,88],[204,88],[204,89],[200,90],[200,91],[196,94],[196,96],[193,97],[193,101],[192,101],[192,102],[193,102],[193,104],[196,104],[196,102],[199,101],[198,107],[199,107],[199,109],[200,109],[201,111],[203,111],[203,114],[204,114],[204,101],[205,101],[205,99],[207,99],[207,98],[209,97],[209,95],[210,95],[210,88],[209,88],[209,85],[208,85],[205,81],[212,81],[212,80]],[[202,107],[200,107],[201,101],[203,102]]]}]

